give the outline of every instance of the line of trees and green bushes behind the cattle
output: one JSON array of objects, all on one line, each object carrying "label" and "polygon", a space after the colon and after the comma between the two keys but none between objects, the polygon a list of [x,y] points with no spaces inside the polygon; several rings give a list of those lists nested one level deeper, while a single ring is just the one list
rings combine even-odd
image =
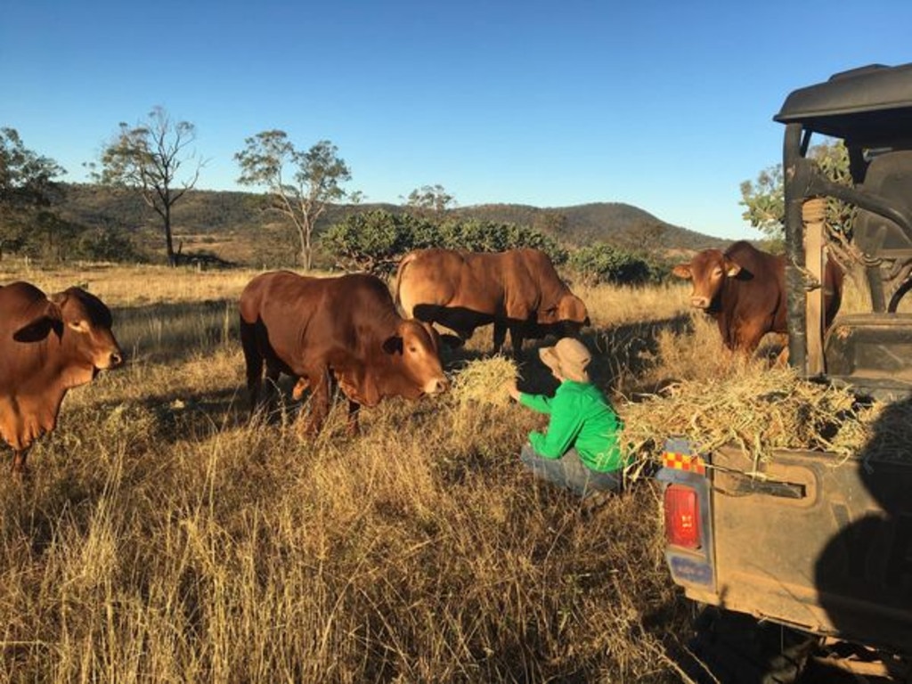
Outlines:
[{"label": "line of trees and green bushes behind the cattle", "polygon": [[[93,181],[130,189],[157,215],[165,259],[172,266],[181,261],[172,232],[173,210],[196,186],[206,163],[193,149],[195,140],[192,123],[172,119],[156,107],[135,126],[121,122],[103,143],[98,160],[85,164]],[[839,168],[838,155],[819,156]],[[552,236],[565,221],[556,212],[543,212],[535,225],[461,218],[452,211],[455,198],[440,185],[426,185],[400,198],[404,212],[350,212],[318,236],[316,223],[327,207],[358,205],[361,200],[360,192],[347,189],[352,173],[331,141],[319,140],[304,150],[285,131],[264,130],[245,139],[234,160],[238,183],[262,192],[264,211],[281,217],[294,234],[297,263],[305,270],[314,266],[317,254],[338,267],[389,273],[412,249],[503,251],[529,246],[594,283],[647,283],[667,273],[667,264],[650,254],[617,245],[596,242],[568,251]],[[57,178],[65,172],[53,159],[27,149],[15,129],[0,129],[0,258],[17,253],[139,260],[130,236],[113,221],[86,229],[54,211],[62,192]],[[762,171],[756,182],[741,184],[745,218],[772,239],[776,226],[779,234],[782,230],[781,195],[781,172],[777,175],[775,167]]]}]

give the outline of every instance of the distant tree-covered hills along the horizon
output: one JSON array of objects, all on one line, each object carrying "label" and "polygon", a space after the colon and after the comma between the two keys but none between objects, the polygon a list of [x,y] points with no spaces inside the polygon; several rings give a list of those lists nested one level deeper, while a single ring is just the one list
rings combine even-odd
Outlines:
[{"label": "distant tree-covered hills along the horizon", "polygon": [[[157,249],[161,223],[157,214],[142,202],[139,193],[81,183],[67,184],[64,189],[66,192],[58,210],[65,219],[89,227],[123,228],[133,233],[140,243]],[[275,212],[264,211],[264,207],[263,196],[252,192],[193,190],[174,207],[173,233],[176,241],[202,242],[213,249],[227,242],[233,242],[236,247],[242,242],[279,239],[283,233],[281,219]],[[375,209],[405,211],[394,204],[335,205],[326,211],[317,225],[317,232],[343,220],[350,212]],[[652,245],[654,250],[660,246],[663,251],[676,252],[718,247],[730,242],[665,223],[649,212],[620,202],[547,208],[480,204],[450,211],[483,221],[529,225],[551,234],[568,247],[604,242],[631,249]],[[249,254],[248,250],[233,251]]]}]

